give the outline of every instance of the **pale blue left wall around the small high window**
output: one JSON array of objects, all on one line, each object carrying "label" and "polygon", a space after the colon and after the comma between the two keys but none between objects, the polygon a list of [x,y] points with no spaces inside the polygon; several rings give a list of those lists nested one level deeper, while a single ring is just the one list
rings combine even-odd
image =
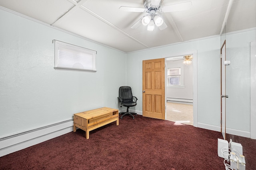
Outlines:
[{"label": "pale blue left wall around the small high window", "polygon": [[[0,10],[0,138],[118,108],[126,54]],[[97,51],[97,72],[54,70],[52,39]]]}]

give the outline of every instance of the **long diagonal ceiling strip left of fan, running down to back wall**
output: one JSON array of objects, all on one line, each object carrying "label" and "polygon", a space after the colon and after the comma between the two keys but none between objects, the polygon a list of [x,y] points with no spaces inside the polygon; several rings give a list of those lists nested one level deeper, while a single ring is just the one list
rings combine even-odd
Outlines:
[{"label": "long diagonal ceiling strip left of fan, running down to back wall", "polygon": [[127,37],[129,37],[130,39],[136,41],[137,43],[140,43],[141,45],[143,45],[144,47],[150,48],[147,45],[145,45],[144,43],[140,42],[139,40],[135,39],[134,37],[132,37],[131,35],[129,35],[128,33],[122,31],[122,29],[116,27],[115,25],[113,25],[112,23],[110,23],[109,21],[105,20],[104,18],[102,18],[101,16],[97,15],[96,13],[92,12],[91,10],[89,10],[88,8],[84,7],[84,6],[80,6],[80,8],[86,12],[88,12],[89,14],[91,14],[92,16],[98,18],[99,20],[103,21],[104,23],[108,24],[109,26],[111,26],[112,28],[116,29],[117,31],[119,31],[120,33],[126,35]]}]

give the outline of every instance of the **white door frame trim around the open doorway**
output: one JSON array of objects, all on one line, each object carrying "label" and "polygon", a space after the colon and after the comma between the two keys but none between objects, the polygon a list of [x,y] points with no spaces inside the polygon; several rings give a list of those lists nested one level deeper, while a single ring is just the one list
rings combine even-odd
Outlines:
[{"label": "white door frame trim around the open doorway", "polygon": [[[166,67],[166,58],[177,57],[182,55],[193,55],[192,64],[193,64],[193,126],[198,127],[198,116],[197,116],[197,50],[194,51],[183,51],[179,53],[169,53],[164,54],[162,57],[165,58],[165,67]],[[165,68],[166,70],[166,68]],[[165,71],[165,84],[166,84],[166,71]],[[166,96],[166,86],[165,86],[165,96]],[[166,100],[165,100],[166,107]],[[165,109],[165,119],[166,119],[166,109]]]}]

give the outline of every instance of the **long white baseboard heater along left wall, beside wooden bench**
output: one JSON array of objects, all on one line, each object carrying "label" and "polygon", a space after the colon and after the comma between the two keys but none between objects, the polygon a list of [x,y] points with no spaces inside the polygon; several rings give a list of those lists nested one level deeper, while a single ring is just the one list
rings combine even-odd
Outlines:
[{"label": "long white baseboard heater along left wall, beside wooden bench", "polygon": [[0,157],[72,132],[73,125],[74,121],[72,119],[2,138],[0,139]]}]

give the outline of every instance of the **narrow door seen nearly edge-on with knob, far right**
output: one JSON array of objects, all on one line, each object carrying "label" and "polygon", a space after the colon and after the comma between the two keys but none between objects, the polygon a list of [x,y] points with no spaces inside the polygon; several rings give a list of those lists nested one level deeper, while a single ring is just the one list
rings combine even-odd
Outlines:
[{"label": "narrow door seen nearly edge-on with knob, far right", "polygon": [[224,41],[220,49],[220,64],[221,64],[221,133],[223,139],[226,140],[226,66],[224,61],[226,60],[226,40]]}]

